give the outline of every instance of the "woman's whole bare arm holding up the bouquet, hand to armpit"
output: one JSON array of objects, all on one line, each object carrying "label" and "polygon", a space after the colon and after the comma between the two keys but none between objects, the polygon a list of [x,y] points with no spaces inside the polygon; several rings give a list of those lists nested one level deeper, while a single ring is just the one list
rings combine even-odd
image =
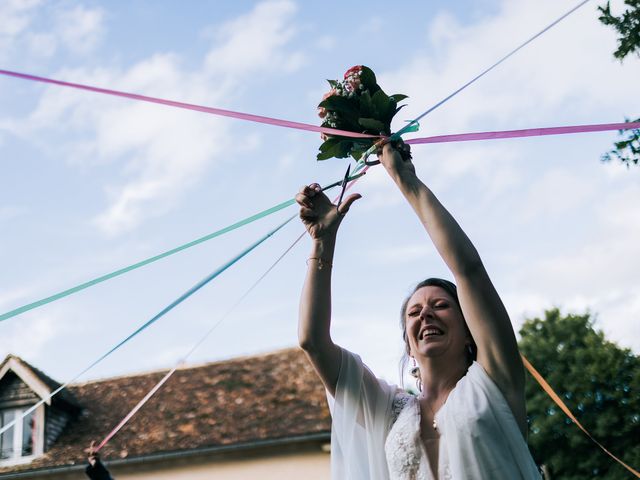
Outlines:
[{"label": "woman's whole bare arm holding up the bouquet, hand to armpit", "polygon": [[524,369],[507,311],[477,250],[451,214],[417,177],[410,160],[387,143],[380,161],[413,207],[453,274],[465,320],[478,347],[478,362],[502,390],[525,425]]}]

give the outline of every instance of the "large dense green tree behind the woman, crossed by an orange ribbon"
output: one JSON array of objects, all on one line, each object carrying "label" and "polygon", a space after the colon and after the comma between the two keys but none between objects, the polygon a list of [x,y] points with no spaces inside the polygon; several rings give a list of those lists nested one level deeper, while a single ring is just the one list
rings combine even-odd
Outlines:
[{"label": "large dense green tree behind the woman, crossed by an orange ribbon", "polygon": [[[558,309],[527,320],[520,350],[584,427],[633,468],[640,466],[640,357],[594,329],[589,313]],[[553,480],[628,479],[530,376],[526,384],[529,445]]]}]

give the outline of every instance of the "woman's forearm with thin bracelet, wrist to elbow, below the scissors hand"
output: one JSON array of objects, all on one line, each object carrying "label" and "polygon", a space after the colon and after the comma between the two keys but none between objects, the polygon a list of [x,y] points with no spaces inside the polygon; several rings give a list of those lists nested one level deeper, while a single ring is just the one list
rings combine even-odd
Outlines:
[{"label": "woman's forearm with thin bracelet, wrist to elbow, below the scissors hand", "polygon": [[300,298],[298,339],[307,351],[331,345],[331,271],[335,237],[314,239]]}]

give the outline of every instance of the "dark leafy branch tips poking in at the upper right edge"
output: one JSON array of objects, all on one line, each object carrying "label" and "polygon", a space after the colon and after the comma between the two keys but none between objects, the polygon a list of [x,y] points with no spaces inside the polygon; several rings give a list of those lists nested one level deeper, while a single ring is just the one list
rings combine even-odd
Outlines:
[{"label": "dark leafy branch tips poking in at the upper right edge", "polygon": [[[640,57],[640,0],[625,0],[625,5],[629,8],[619,17],[611,13],[609,2],[604,7],[598,7],[600,11],[599,20],[615,28],[619,34],[618,48],[613,56],[620,61],[635,53]],[[628,121],[628,120],[627,120]],[[640,118],[634,122],[640,121]],[[622,135],[624,132],[620,132]],[[617,158],[626,164],[627,168],[634,163],[640,163],[640,130],[627,131],[621,140],[615,142],[614,148],[602,155],[602,161],[608,162],[612,158]]]}]

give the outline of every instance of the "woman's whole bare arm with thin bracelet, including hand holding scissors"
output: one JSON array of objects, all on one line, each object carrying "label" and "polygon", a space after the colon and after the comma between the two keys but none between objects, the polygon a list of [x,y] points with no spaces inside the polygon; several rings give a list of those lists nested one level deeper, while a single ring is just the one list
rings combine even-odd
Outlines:
[{"label": "woman's whole bare arm with thin bracelet, including hand holding scissors", "polygon": [[340,373],[340,348],[331,340],[331,271],[340,222],[359,194],[332,204],[317,183],[303,187],[296,195],[300,218],[311,237],[311,254],[300,298],[298,341],[322,379],[335,394]]}]

